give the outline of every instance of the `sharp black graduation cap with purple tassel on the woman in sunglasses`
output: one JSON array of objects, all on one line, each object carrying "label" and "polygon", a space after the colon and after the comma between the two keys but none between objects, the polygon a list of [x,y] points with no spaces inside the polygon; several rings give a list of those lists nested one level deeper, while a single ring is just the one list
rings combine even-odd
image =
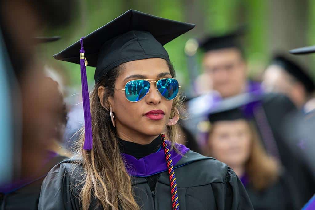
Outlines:
[{"label": "sharp black graduation cap with purple tassel on the woman in sunglasses", "polygon": [[94,79],[98,82],[114,67],[132,60],[162,58],[169,61],[169,55],[163,45],[194,27],[193,24],[131,9],[54,55],[57,60],[81,66],[85,122],[83,149],[92,149],[91,113],[85,66],[96,67]]}]

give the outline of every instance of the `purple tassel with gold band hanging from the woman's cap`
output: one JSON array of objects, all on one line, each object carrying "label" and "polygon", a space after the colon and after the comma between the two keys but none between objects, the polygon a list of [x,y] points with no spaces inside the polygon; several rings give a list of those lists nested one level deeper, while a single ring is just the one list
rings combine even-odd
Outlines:
[{"label": "purple tassel with gold band hanging from the woman's cap", "polygon": [[82,98],[83,98],[83,110],[84,110],[84,150],[91,150],[93,146],[92,140],[92,120],[90,111],[90,99],[89,99],[89,87],[88,79],[86,77],[85,57],[83,48],[83,38],[80,39],[80,67],[81,67],[81,84],[82,84]]}]

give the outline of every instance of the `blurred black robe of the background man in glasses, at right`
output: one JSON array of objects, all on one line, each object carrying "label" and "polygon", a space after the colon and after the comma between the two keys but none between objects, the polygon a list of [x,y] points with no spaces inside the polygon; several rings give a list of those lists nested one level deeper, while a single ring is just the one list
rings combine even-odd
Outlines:
[{"label": "blurred black robe of the background man in glasses, at right", "polygon": [[[272,93],[263,95],[262,107],[272,130],[278,157],[287,173],[293,178],[297,192],[301,197],[301,204],[306,203],[315,193],[315,178],[308,163],[301,158],[301,153],[296,152],[300,148],[295,140],[299,139],[292,140],[288,138],[288,134],[292,134],[292,130],[283,129],[287,122],[295,120],[290,116],[296,112],[296,108],[286,96]],[[258,120],[255,119],[255,122],[259,128]],[[266,134],[268,133],[267,129],[259,129],[259,131]],[[263,138],[262,140],[266,146],[266,141]]]}]

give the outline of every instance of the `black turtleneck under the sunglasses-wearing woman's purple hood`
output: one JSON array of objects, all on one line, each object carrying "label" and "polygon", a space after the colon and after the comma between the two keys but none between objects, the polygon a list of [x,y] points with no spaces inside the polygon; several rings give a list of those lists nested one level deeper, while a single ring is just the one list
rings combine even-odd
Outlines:
[{"label": "black turtleneck under the sunglasses-wearing woman's purple hood", "polygon": [[[156,152],[162,146],[161,135],[159,135],[156,139],[154,139],[150,144],[147,144],[147,145],[140,145],[140,144],[130,142],[130,141],[125,141],[119,138],[118,138],[118,142],[119,142],[121,152],[127,155],[132,155],[138,160],[144,156],[147,156],[147,155],[150,155],[151,153]],[[154,174],[152,176],[146,177],[148,185],[152,191],[152,196],[155,195],[155,192],[154,192],[155,185],[159,177],[160,177],[160,174]]]}]

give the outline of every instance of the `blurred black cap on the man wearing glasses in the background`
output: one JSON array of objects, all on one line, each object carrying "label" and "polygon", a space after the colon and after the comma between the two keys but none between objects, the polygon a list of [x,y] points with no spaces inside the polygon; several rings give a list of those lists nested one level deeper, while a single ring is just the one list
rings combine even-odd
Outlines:
[{"label": "blurred black cap on the man wearing glasses in the background", "polygon": [[231,31],[221,35],[208,35],[199,41],[199,48],[205,51],[222,49],[222,48],[238,48],[242,50],[239,43],[239,37],[244,35],[246,26],[239,27],[235,31]]}]

